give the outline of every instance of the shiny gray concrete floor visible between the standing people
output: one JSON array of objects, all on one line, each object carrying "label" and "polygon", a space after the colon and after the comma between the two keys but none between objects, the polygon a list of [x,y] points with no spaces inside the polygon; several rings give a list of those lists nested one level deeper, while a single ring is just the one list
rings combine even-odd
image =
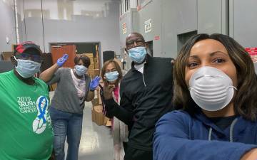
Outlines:
[{"label": "shiny gray concrete floor visible between the standing people", "polygon": [[[54,92],[50,92],[50,97]],[[111,129],[98,126],[91,120],[91,102],[86,102],[83,117],[79,160],[113,160],[114,146]],[[65,146],[67,150],[67,144]]]}]

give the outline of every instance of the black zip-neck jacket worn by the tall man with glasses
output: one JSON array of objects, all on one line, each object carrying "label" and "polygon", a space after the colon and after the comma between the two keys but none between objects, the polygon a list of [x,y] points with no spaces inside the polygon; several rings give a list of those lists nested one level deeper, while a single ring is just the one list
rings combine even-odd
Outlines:
[{"label": "black zip-neck jacket worn by the tall man with glasses", "polygon": [[107,116],[115,116],[129,125],[129,145],[152,150],[153,132],[158,119],[172,110],[172,58],[147,55],[143,74],[133,66],[121,80],[120,107],[113,99],[105,100]]}]

